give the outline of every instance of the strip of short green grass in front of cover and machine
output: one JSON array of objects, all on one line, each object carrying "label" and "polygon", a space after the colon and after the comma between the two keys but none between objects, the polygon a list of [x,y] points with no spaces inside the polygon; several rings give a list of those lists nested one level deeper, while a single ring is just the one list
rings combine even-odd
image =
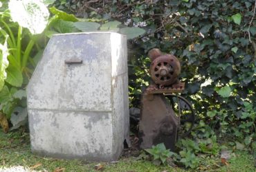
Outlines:
[{"label": "strip of short green grass in front of cover and machine", "polygon": [[[118,162],[100,162],[102,171],[255,171],[253,156],[246,151],[235,152],[228,165],[221,166],[219,156],[202,157],[201,165],[196,170],[156,166],[147,160],[121,158]],[[29,135],[22,131],[3,133],[0,131],[0,171],[14,166],[24,166],[27,171],[97,171],[95,165],[81,160],[56,160],[33,155],[30,151]],[[19,171],[17,171],[19,172]]]}]

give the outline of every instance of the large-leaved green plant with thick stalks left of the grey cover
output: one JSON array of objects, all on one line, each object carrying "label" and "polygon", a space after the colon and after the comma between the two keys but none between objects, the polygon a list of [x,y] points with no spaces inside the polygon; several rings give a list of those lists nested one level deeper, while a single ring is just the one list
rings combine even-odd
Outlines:
[{"label": "large-leaved green plant with thick stalks left of the grey cover", "polygon": [[26,96],[19,92],[24,91],[33,73],[33,48],[36,45],[40,50],[39,36],[33,34],[46,28],[48,17],[48,9],[41,1],[10,1],[8,8],[0,12],[0,39],[6,39],[0,54],[1,85],[4,84],[0,89],[0,109],[7,118],[15,107],[26,107]]}]

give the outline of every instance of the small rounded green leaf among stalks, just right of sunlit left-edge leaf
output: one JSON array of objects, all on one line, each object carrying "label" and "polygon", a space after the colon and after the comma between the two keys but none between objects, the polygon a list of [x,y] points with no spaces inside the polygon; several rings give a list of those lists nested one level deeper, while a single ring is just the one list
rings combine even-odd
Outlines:
[{"label": "small rounded green leaf among stalks, just right of sunlit left-edge leaf", "polygon": [[22,72],[17,67],[9,65],[9,67],[6,69],[6,73],[7,73],[7,78],[6,78],[7,83],[15,87],[21,87],[23,83],[23,76],[22,76]]}]

